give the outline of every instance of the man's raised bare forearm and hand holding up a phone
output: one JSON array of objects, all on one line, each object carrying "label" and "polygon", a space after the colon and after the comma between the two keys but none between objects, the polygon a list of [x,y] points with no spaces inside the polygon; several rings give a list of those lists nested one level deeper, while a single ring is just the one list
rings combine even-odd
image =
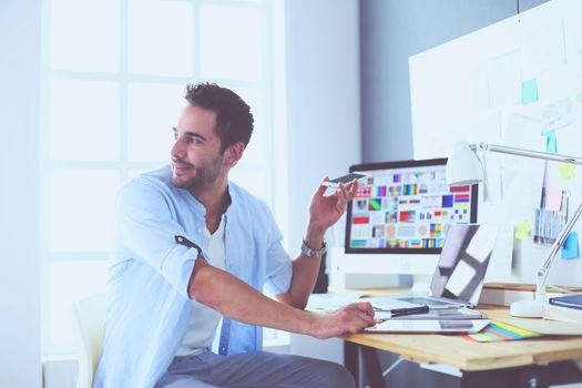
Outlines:
[{"label": "man's raised bare forearm and hand holding up a phone", "polygon": [[[327,228],[334,225],[346,211],[347,203],[354,198],[358,188],[357,181],[348,185],[339,184],[334,194],[324,195],[326,186],[320,185],[312,197],[309,205],[309,222],[304,238],[307,251],[320,251],[324,247],[324,236]],[[293,277],[289,289],[277,295],[277,298],[290,306],[305,308],[307,299],[314,290],[319,273],[321,257],[316,253],[310,256],[302,249],[293,262]]]}]

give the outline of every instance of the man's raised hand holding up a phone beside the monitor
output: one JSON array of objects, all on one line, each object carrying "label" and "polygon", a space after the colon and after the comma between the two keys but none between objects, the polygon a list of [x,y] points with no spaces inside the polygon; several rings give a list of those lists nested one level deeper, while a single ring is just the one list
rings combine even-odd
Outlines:
[{"label": "man's raised hand holding up a phone beside the monitor", "polygon": [[[328,178],[326,177],[325,181]],[[340,183],[334,194],[327,196],[324,195],[326,188],[320,185],[312,197],[308,229],[315,228],[317,232],[325,233],[329,226],[334,225],[346,211],[348,202],[356,195],[358,181],[354,180],[347,185]]]}]

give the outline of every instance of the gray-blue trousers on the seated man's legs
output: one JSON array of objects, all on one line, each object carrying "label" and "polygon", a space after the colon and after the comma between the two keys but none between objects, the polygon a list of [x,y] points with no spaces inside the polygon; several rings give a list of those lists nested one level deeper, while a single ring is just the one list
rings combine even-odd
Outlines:
[{"label": "gray-blue trousers on the seated man's legs", "polygon": [[211,351],[176,357],[155,388],[354,388],[343,366],[292,355],[257,351],[218,356]]}]

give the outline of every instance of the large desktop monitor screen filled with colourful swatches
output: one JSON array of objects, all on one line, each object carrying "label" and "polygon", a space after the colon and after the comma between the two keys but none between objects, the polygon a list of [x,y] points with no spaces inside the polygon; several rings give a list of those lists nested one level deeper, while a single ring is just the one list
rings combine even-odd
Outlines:
[{"label": "large desktop monitor screen filled with colourful swatches", "polygon": [[478,185],[449,187],[447,159],[356,164],[346,253],[438,254],[451,225],[477,222]]}]

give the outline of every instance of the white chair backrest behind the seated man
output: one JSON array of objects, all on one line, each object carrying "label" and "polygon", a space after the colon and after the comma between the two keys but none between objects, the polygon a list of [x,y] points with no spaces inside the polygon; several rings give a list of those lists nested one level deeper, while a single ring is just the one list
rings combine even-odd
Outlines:
[{"label": "white chair backrest behind the seated man", "polygon": [[93,385],[103,341],[106,308],[105,295],[93,295],[73,303],[79,348],[76,388],[91,388]]}]

